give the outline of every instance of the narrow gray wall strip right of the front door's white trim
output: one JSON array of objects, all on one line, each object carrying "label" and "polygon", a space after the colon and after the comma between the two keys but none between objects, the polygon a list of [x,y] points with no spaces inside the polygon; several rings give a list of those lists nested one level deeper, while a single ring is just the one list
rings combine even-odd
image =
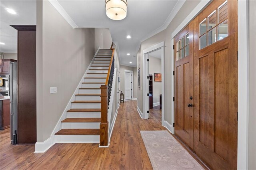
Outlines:
[{"label": "narrow gray wall strip right of the front door's white trim", "polygon": [[256,170],[256,1],[249,1],[249,132],[248,169]]}]

